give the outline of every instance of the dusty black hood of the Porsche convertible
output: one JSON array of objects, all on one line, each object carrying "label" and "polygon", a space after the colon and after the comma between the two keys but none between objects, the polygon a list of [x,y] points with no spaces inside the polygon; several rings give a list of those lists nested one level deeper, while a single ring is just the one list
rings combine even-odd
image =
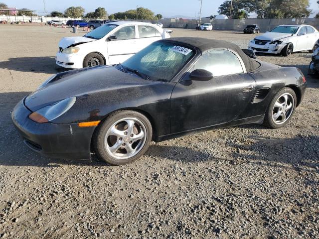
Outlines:
[{"label": "dusty black hood of the Porsche convertible", "polygon": [[112,66],[85,68],[58,74],[43,88],[27,96],[24,104],[34,112],[72,96],[85,97],[97,92],[155,83],[155,81],[124,73]]}]

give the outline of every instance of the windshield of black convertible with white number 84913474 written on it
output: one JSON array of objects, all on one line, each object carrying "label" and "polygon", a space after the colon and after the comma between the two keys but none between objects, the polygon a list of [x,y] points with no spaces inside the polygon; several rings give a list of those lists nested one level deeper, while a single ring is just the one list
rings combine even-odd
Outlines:
[{"label": "windshield of black convertible with white number 84913474 written on it", "polygon": [[154,42],[122,63],[126,70],[154,81],[170,81],[195,52],[170,42]]}]

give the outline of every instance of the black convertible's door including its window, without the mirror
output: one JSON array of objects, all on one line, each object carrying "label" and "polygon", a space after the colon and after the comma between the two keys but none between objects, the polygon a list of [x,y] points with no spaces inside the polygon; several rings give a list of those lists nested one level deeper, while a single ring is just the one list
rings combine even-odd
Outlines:
[{"label": "black convertible's door including its window, without the mirror", "polygon": [[[214,77],[208,81],[190,80],[189,72],[195,69],[210,71]],[[189,72],[172,92],[171,133],[238,119],[251,102],[256,82],[232,51],[209,51]]]}]

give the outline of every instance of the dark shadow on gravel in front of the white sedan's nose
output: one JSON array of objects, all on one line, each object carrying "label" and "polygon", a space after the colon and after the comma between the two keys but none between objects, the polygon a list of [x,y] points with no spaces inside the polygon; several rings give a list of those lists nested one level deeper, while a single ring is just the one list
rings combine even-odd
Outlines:
[{"label": "dark shadow on gravel in front of the white sedan's nose", "polygon": [[12,71],[38,72],[48,74],[55,74],[68,70],[57,66],[55,64],[54,57],[48,56],[9,58],[8,61],[0,62],[0,68]]}]

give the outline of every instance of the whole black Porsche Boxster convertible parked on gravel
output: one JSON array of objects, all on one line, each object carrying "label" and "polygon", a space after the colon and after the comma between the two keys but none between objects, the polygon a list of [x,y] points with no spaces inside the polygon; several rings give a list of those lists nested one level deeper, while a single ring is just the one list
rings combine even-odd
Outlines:
[{"label": "whole black Porsche Boxster convertible parked on gravel", "polygon": [[141,157],[151,140],[247,123],[285,126],[306,80],[294,67],[249,58],[203,38],[154,42],[122,64],[56,74],[21,100],[12,120],[47,156],[114,165]]}]

